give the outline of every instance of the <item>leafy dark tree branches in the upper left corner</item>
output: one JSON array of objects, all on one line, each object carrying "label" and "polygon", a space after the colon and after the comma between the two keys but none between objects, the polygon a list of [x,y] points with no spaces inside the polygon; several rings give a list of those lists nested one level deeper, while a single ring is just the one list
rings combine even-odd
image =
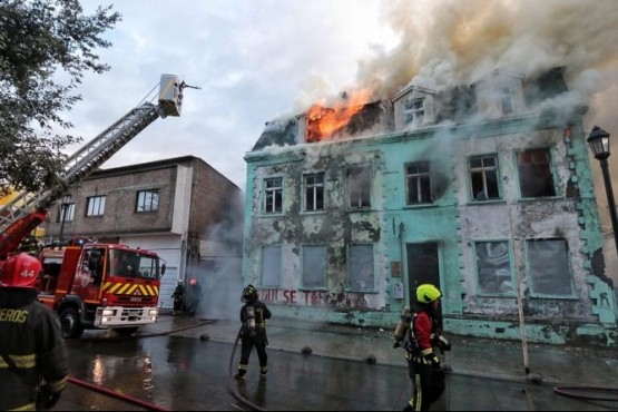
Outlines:
[{"label": "leafy dark tree branches in the upper left corner", "polygon": [[85,16],[79,0],[0,0],[0,196],[59,183],[61,149],[81,140],[61,115],[85,72],[110,69],[96,50],[118,21],[111,6]]}]

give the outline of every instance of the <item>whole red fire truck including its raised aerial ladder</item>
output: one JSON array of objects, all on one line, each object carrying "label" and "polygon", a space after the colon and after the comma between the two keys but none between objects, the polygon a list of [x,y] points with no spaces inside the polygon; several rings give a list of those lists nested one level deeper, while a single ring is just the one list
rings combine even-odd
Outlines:
[{"label": "whole red fire truck including its raised aerial ladder", "polygon": [[[21,242],[47,218],[48,208],[88,177],[156,119],[180,116],[183,89],[196,88],[163,75],[158,104],[144,102],[70,156],[61,182],[42,193],[21,192],[0,207],[0,267]],[[130,335],[158,316],[165,263],[156,253],[76,236],[39,253],[43,269],[39,301],[56,311],[66,339],[88,328]]]}]

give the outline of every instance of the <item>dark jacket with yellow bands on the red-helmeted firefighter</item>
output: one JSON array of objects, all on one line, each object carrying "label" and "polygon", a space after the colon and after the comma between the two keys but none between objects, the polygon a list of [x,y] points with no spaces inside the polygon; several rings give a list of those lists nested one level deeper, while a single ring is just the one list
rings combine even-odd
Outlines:
[{"label": "dark jacket with yellow bands on the red-helmeted firefighter", "polygon": [[35,410],[41,377],[61,392],[69,366],[58,316],[37,301],[33,288],[0,287],[0,411]]}]

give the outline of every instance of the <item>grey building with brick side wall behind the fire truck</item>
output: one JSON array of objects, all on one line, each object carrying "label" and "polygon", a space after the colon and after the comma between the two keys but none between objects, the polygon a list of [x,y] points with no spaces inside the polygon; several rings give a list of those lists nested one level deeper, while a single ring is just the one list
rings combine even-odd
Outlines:
[{"label": "grey building with brick side wall behind the fire truck", "polygon": [[[157,194],[151,210],[137,210],[139,193]],[[101,213],[88,215],[89,199],[105,198]],[[242,220],[241,189],[204,160],[185,156],[101,169],[70,190],[63,238],[73,235],[156,252],[166,262],[159,305],[170,308],[178,279],[206,283],[225,249],[239,272],[239,237],[220,237],[219,226]],[[148,206],[150,207],[150,206]],[[45,242],[60,235],[61,207],[49,214]],[[236,223],[234,223],[236,224]],[[219,263],[220,264],[220,263]]]}]

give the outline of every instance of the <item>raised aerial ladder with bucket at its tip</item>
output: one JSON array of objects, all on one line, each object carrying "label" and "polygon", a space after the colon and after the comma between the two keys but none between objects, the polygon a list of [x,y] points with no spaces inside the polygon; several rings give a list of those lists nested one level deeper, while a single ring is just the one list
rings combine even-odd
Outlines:
[{"label": "raised aerial ladder with bucket at its tip", "polygon": [[178,81],[174,75],[161,75],[157,105],[143,102],[88,141],[68,158],[57,185],[41,193],[22,190],[0,206],[0,261],[45,222],[48,208],[65,195],[67,188],[87,178],[159,117],[180,116],[185,87],[197,89]]}]

